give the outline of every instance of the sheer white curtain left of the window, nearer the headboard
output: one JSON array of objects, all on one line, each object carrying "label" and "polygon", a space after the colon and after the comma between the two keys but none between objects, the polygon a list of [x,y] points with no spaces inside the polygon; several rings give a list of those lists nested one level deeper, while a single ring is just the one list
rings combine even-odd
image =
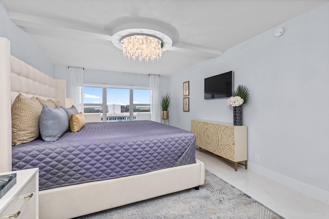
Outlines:
[{"label": "sheer white curtain left of the window, nearer the headboard", "polygon": [[83,68],[68,67],[68,97],[74,100],[74,106],[83,112]]}]

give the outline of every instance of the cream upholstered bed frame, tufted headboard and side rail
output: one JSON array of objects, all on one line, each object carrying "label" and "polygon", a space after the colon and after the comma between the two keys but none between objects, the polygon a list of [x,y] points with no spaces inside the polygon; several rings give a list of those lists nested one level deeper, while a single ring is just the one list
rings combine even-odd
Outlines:
[{"label": "cream upholstered bed frame, tufted headboard and side rail", "polygon": [[[23,95],[65,103],[65,81],[53,79],[11,56],[10,42],[0,37],[0,172],[11,171],[11,104]],[[205,180],[204,163],[172,167],[39,192],[40,218],[71,218],[181,191]]]}]

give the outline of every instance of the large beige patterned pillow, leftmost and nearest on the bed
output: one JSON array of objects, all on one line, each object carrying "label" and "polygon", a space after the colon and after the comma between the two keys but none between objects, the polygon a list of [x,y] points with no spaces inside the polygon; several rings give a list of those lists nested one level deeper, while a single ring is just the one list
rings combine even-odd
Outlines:
[{"label": "large beige patterned pillow, leftmost and nearest on the bed", "polygon": [[42,105],[34,96],[26,98],[21,93],[11,106],[12,145],[31,142],[39,137],[39,118]]}]

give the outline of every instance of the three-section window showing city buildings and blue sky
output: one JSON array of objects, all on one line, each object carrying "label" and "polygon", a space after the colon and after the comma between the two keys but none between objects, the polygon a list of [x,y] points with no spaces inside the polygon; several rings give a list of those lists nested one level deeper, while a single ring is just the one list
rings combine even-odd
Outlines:
[{"label": "three-section window showing city buildings and blue sky", "polygon": [[106,122],[151,120],[150,98],[149,89],[83,87],[84,113],[99,113]]}]

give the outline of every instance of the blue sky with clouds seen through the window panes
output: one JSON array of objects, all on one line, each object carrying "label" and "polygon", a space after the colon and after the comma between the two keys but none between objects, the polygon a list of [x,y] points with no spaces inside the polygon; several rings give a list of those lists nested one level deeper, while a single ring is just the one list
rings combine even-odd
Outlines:
[{"label": "blue sky with clouds seen through the window panes", "polygon": [[[98,87],[83,87],[83,103],[102,103],[102,90]],[[129,89],[107,88],[107,104],[129,105]],[[150,104],[150,90],[134,89],[134,104]]]}]

